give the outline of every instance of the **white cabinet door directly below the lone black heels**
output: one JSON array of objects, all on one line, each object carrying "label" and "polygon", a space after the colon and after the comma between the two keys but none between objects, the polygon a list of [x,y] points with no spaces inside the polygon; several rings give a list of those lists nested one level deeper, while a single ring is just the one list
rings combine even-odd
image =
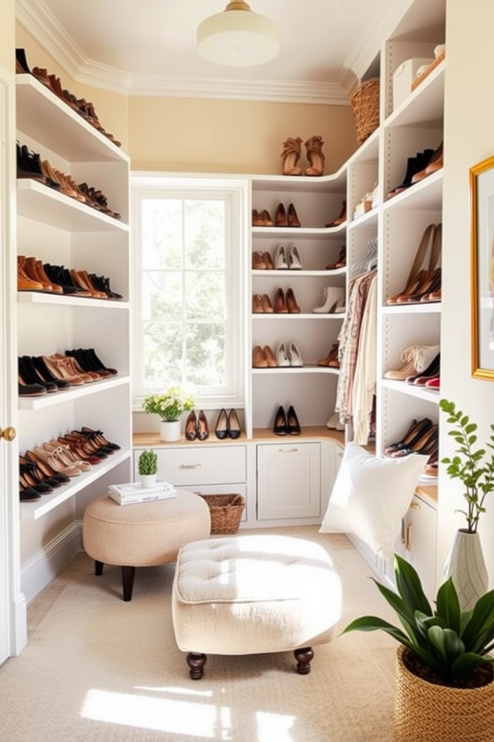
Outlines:
[{"label": "white cabinet door directly below the lone black heels", "polygon": [[321,515],[321,444],[259,444],[258,520]]}]

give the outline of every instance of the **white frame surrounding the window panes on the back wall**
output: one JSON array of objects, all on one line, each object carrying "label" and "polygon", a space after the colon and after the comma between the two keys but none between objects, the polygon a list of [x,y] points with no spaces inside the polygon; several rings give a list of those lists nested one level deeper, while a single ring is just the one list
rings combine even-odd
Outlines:
[{"label": "white frame surrounding the window panes on the back wall", "polygon": [[131,234],[131,275],[132,275],[132,352],[131,375],[133,382],[133,410],[141,410],[144,398],[144,379],[137,359],[143,355],[143,338],[141,335],[141,211],[140,203],[145,197],[158,198],[161,194],[178,198],[224,199],[226,206],[227,252],[225,270],[227,273],[226,295],[226,355],[225,364],[228,372],[228,383],[224,390],[217,393],[196,395],[196,404],[203,409],[221,407],[241,407],[245,401],[245,332],[244,316],[244,255],[248,241],[248,181],[244,178],[224,177],[218,175],[167,174],[161,172],[133,172],[130,177],[130,201],[132,209]]}]

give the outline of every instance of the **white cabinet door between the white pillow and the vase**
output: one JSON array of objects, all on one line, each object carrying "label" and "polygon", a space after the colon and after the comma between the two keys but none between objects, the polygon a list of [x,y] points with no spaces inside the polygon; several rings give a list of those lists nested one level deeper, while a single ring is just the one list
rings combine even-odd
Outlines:
[{"label": "white cabinet door between the white pillow and the vase", "polygon": [[404,555],[418,572],[424,593],[435,596],[436,512],[432,505],[414,496],[404,519]]}]

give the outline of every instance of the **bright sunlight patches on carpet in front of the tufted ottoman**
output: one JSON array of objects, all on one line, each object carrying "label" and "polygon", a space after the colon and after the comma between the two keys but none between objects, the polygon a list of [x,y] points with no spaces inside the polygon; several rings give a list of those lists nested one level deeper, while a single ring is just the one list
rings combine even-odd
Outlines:
[{"label": "bright sunlight patches on carpet in front of the tufted ottoman", "polygon": [[[212,695],[178,688],[147,689],[153,690],[180,692],[181,695]],[[87,693],[81,717],[201,739],[233,740],[231,710],[227,706],[195,703],[193,700],[178,701],[92,689]],[[257,712],[257,733],[253,729],[252,742],[292,742],[290,729],[294,721],[293,716]],[[240,723],[245,723],[245,720]]]}]

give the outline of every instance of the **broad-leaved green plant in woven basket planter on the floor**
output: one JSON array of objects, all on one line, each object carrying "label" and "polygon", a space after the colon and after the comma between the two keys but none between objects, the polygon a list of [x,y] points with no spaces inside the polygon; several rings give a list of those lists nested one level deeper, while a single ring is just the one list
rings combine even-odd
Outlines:
[{"label": "broad-leaved green plant in woven basket planter on the floor", "polygon": [[375,616],[343,631],[381,629],[400,643],[396,655],[393,742],[488,740],[494,729],[494,591],[461,612],[451,577],[435,608],[420,578],[395,554],[397,592],[374,580],[401,627]]}]

